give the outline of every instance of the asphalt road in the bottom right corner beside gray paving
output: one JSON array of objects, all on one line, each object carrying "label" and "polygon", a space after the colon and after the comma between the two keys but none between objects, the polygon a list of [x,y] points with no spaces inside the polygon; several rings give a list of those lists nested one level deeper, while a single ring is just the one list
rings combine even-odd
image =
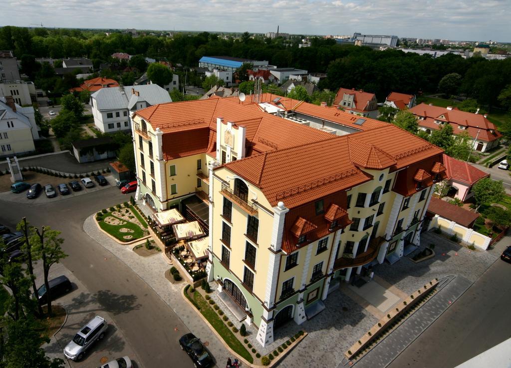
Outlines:
[{"label": "asphalt road in the bottom right corner beside gray paving", "polygon": [[511,264],[498,259],[389,368],[455,367],[511,337]]}]

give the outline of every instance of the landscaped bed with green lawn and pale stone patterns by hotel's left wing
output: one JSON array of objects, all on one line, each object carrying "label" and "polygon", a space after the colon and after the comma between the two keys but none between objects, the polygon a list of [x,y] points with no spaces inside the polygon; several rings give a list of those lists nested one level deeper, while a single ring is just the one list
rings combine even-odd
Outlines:
[{"label": "landscaped bed with green lawn and pale stone patterns by hotel's left wing", "polygon": [[123,243],[132,242],[149,234],[146,220],[128,202],[98,212],[96,221],[103,231]]}]

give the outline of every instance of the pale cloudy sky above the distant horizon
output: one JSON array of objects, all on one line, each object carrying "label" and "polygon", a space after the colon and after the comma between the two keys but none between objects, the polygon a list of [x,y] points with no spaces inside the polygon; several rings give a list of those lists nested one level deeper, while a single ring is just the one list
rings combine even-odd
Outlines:
[{"label": "pale cloudy sky above the distant horizon", "polygon": [[1,25],[511,41],[510,0],[0,0]]}]

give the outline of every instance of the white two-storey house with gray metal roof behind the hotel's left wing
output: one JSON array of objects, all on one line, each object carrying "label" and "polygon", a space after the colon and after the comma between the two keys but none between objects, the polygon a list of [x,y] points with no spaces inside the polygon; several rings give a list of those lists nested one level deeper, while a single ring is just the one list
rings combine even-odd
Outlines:
[{"label": "white two-storey house with gray metal roof behind the hotel's left wing", "polygon": [[172,102],[157,84],[101,88],[90,95],[94,124],[103,133],[131,130],[131,114],[137,110]]}]

